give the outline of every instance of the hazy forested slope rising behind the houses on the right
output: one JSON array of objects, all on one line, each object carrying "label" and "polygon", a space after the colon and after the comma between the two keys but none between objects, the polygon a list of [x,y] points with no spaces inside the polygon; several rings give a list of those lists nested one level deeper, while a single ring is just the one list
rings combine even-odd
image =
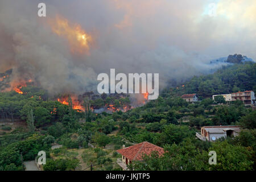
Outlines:
[{"label": "hazy forested slope rising behind the houses on the right", "polygon": [[246,90],[256,92],[256,63],[228,65],[212,75],[193,77],[174,89],[178,94],[197,93],[202,97]]}]

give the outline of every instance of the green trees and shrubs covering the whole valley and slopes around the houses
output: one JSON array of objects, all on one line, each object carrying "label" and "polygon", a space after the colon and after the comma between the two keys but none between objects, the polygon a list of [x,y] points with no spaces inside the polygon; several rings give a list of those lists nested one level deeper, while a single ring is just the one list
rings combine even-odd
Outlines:
[{"label": "green trees and shrubs covering the whole valley and slopes around the houses", "polygon": [[[166,88],[159,98],[141,107],[113,113],[93,109],[102,106],[130,105],[129,97],[102,94],[83,97],[84,110],[52,99],[46,90],[22,88],[22,94],[0,93],[0,170],[23,170],[22,160],[34,160],[46,151],[44,170],[85,170],[93,163],[97,170],[120,170],[116,150],[122,145],[150,142],[163,147],[134,162],[135,170],[254,170],[256,151],[256,111],[241,101],[213,101],[212,94],[244,90],[256,91],[256,64],[234,64],[212,75],[193,77]],[[200,102],[189,104],[180,96],[197,93]],[[15,123],[23,125],[15,125]],[[204,142],[195,137],[201,126],[240,125],[236,138]],[[52,149],[52,143],[61,148]],[[94,148],[89,147],[93,144]],[[217,152],[217,164],[208,164],[209,151]]]}]

